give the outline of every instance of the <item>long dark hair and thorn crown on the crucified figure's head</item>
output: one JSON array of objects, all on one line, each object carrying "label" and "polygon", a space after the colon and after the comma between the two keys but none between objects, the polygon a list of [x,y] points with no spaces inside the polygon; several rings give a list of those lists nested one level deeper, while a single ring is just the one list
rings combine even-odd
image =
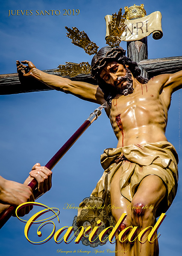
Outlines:
[{"label": "long dark hair and thorn crown on the crucified figure's head", "polygon": [[126,65],[129,66],[133,77],[135,77],[138,82],[144,84],[148,82],[148,79],[141,77],[141,70],[138,68],[138,64],[133,62],[131,59],[125,56],[126,51],[122,47],[110,47],[106,46],[101,48],[96,55],[94,55],[91,62],[91,74],[97,80],[99,87],[104,93],[104,99],[109,103],[116,95],[117,91],[112,85],[104,82],[100,78],[100,72],[103,68],[112,61],[116,61],[126,68]]}]

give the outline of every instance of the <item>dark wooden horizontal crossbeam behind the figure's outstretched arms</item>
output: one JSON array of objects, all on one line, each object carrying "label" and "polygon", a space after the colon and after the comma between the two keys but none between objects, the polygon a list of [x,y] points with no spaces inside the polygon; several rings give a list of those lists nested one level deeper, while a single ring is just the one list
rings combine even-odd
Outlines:
[{"label": "dark wooden horizontal crossbeam behind the figure's outstretched arms", "polygon": [[[182,70],[182,56],[161,59],[143,59],[138,62],[138,65],[142,70],[141,75],[150,79],[159,74],[170,74]],[[55,69],[44,70],[44,72],[48,74],[59,75],[59,73],[54,71]],[[91,75],[80,74],[70,79],[96,85]],[[17,73],[0,75],[0,95],[47,90],[52,89],[32,77],[19,78]]]}]

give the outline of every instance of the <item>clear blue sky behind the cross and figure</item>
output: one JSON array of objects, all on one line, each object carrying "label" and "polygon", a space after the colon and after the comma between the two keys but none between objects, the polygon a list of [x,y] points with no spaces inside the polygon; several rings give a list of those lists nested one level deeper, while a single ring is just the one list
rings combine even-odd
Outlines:
[{"label": "clear blue sky behind the cross and figure", "polygon": [[[1,1],[2,2],[2,1]],[[65,26],[76,26],[88,33],[91,41],[105,46],[106,24],[104,16],[118,12],[120,7],[140,2],[114,3],[109,0],[7,0],[0,8],[0,74],[16,72],[16,60],[31,60],[37,68],[52,69],[65,62],[91,62],[81,48],[71,44]],[[162,13],[164,36],[156,41],[148,37],[149,59],[181,56],[182,6],[180,1],[142,1],[147,14]],[[36,15],[36,10],[60,10],[60,15]],[[63,9],[79,9],[79,15],[63,15]],[[32,10],[32,15],[8,17],[9,10]],[[30,14],[30,12],[29,12]],[[126,49],[126,42],[120,44]],[[182,94],[181,94],[182,95]],[[181,255],[181,199],[182,155],[179,150],[179,91],[173,94],[167,124],[167,139],[179,153],[179,189],[167,212],[159,232],[160,256]],[[29,170],[40,162],[45,165],[75,130],[97,107],[72,95],[58,91],[0,96],[0,175],[6,179],[23,182]],[[64,210],[66,203],[76,206],[89,196],[100,179],[103,169],[100,154],[107,147],[116,147],[110,122],[103,111],[100,118],[74,144],[53,169],[53,187],[38,202],[60,210],[60,224],[71,226],[76,210]],[[36,211],[36,209],[35,209]],[[27,217],[28,218],[28,217]],[[23,233],[24,224],[11,218],[0,230],[0,256],[56,255],[56,250],[89,250],[80,244],[56,244],[53,239],[42,245],[30,244]],[[38,237],[33,234],[33,238]],[[107,243],[100,250],[114,245]],[[85,253],[83,253],[85,254]],[[113,254],[114,255],[114,254]]]}]

